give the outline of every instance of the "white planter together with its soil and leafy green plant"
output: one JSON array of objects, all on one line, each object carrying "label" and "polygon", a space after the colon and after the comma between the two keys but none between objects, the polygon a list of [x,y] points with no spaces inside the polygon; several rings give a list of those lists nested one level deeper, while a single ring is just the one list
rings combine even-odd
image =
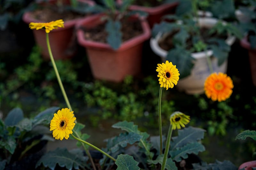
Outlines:
[{"label": "white planter together with its soil and leafy green plant", "polygon": [[188,94],[203,93],[204,81],[212,72],[226,73],[230,46],[241,37],[231,23],[194,17],[195,13],[166,15],[176,22],[156,24],[150,40],[150,47],[163,62],[177,66],[181,77],[176,87]]}]

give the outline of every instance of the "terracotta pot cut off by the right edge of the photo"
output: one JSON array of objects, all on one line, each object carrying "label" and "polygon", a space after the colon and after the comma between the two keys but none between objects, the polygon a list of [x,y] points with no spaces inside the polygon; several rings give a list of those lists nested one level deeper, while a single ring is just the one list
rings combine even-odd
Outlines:
[{"label": "terracotta pot cut off by the right edge of the photo", "polygon": [[256,86],[256,48],[252,49],[251,44],[248,42],[247,36],[245,36],[241,41],[240,44],[243,48],[248,50],[249,55],[249,63],[251,68],[252,74],[252,83]]}]

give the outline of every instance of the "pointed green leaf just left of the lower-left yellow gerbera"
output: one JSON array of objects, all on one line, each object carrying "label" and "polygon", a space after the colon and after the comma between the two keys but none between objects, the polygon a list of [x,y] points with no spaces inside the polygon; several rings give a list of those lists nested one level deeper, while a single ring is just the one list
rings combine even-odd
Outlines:
[{"label": "pointed green leaf just left of the lower-left yellow gerbera", "polygon": [[59,107],[50,107],[45,109],[43,112],[40,112],[32,121],[32,126],[35,127],[39,124],[50,124],[54,113],[56,113],[58,109]]}]

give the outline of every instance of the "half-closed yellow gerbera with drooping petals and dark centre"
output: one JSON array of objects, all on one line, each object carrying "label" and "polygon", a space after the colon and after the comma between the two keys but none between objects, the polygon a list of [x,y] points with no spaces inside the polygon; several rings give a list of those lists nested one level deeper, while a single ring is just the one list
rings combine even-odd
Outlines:
[{"label": "half-closed yellow gerbera with drooping petals and dark centre", "polygon": [[172,129],[181,129],[181,126],[184,128],[186,124],[189,123],[190,116],[185,115],[184,113],[181,112],[174,112],[170,116],[170,122],[172,125]]}]

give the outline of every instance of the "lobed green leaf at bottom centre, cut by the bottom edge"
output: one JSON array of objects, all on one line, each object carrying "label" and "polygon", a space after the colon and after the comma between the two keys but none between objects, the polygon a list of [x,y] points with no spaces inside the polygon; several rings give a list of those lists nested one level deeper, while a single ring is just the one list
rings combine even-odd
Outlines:
[{"label": "lobed green leaf at bottom centre, cut by the bottom edge", "polygon": [[138,166],[139,162],[135,161],[132,156],[130,155],[123,155],[120,154],[117,156],[115,164],[117,165],[116,170],[139,170],[140,167]]}]

